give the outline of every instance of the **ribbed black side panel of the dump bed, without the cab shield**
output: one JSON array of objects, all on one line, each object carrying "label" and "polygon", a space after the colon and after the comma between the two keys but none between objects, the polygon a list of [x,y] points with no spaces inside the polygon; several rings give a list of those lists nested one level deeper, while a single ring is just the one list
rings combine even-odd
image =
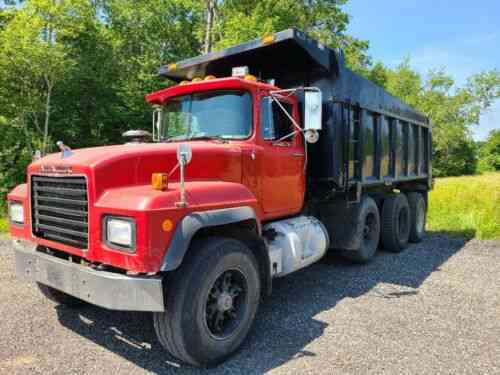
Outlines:
[{"label": "ribbed black side panel of the dump bed, without the cab shield", "polygon": [[320,141],[309,146],[313,188],[430,183],[432,130],[424,115],[347,68],[323,81],[309,83],[327,93]]}]

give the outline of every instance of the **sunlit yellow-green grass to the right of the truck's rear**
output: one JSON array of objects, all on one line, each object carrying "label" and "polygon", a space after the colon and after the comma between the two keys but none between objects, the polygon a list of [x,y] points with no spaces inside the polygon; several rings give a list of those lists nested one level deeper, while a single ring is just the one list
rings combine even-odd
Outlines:
[{"label": "sunlit yellow-green grass to the right of the truck's rear", "polygon": [[500,239],[500,173],[436,179],[427,230]]}]

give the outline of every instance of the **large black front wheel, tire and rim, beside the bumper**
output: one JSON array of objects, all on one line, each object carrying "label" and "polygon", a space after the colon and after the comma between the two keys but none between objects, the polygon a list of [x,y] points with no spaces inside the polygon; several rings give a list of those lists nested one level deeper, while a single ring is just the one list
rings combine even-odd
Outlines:
[{"label": "large black front wheel, tire and rim, beside the bumper", "polygon": [[228,238],[197,240],[165,283],[165,312],[153,315],[160,343],[180,361],[213,366],[233,354],[254,321],[260,299],[257,261]]}]

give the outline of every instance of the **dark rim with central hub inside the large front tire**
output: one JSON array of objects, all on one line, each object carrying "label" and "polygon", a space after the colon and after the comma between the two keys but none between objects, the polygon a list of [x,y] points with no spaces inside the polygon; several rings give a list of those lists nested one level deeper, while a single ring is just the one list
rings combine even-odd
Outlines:
[{"label": "dark rim with central hub inside the large front tire", "polygon": [[205,304],[205,325],[214,339],[231,337],[247,310],[248,283],[236,269],[222,272],[212,284]]}]

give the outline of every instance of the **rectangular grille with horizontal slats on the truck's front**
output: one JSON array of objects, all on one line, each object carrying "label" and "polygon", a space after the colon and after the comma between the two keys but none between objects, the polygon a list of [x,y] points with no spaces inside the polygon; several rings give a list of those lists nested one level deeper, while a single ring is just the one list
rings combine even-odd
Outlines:
[{"label": "rectangular grille with horizontal slats on the truck's front", "polygon": [[85,177],[31,178],[33,234],[86,249],[88,195]]}]

